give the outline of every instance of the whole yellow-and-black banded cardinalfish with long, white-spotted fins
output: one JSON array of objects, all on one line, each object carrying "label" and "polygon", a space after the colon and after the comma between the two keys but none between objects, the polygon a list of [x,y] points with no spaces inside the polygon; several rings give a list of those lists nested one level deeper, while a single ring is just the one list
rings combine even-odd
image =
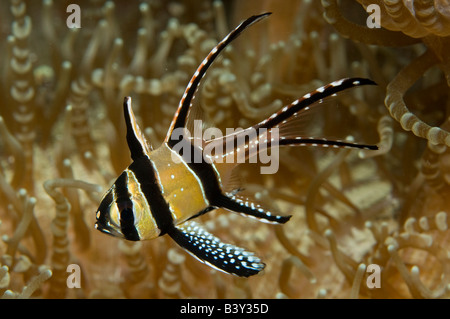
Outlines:
[{"label": "whole yellow-and-black banded cardinalfish with long, white-spotted fins", "polygon": [[[240,146],[236,145],[232,154],[220,154],[220,157],[242,155],[244,152],[244,157],[248,158],[249,150],[262,138],[268,142],[266,148],[276,144],[377,149],[372,145],[302,138],[289,134],[281,135],[274,140],[272,134],[274,128],[283,128],[289,120],[307,112],[317,104],[316,102],[330,95],[351,87],[374,84],[371,80],[362,78],[342,79],[330,83],[285,106],[252,128],[231,136],[203,140],[199,145],[183,135],[176,136],[175,132],[186,126],[195,92],[214,59],[244,29],[269,14],[248,18],[211,50],[191,78],[167,136],[159,148],[152,149],[146,141],[136,123],[131,98],[125,98],[123,109],[127,129],[126,139],[133,162],[104,195],[96,214],[95,226],[98,230],[132,241],[153,239],[167,234],[201,262],[226,273],[252,276],[264,269],[265,265],[260,258],[243,248],[222,243],[219,238],[207,232],[192,219],[217,208],[274,224],[286,223],[290,216],[272,214],[260,205],[241,197],[238,194],[239,190],[225,191],[225,179],[237,164],[211,160],[219,155],[207,160],[202,156],[203,149],[206,146],[225,144],[230,138],[238,140],[249,129],[257,132],[264,130],[264,133],[245,140]],[[200,160],[194,160],[198,158]]]}]

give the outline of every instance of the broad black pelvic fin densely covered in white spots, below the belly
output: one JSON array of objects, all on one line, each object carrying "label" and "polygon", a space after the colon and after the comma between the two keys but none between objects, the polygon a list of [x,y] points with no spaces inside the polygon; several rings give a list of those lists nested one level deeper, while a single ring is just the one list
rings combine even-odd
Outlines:
[{"label": "broad black pelvic fin densely covered in white spots, below the belly", "polygon": [[174,226],[168,234],[199,261],[225,273],[249,277],[265,267],[252,252],[222,243],[196,222],[188,221]]}]

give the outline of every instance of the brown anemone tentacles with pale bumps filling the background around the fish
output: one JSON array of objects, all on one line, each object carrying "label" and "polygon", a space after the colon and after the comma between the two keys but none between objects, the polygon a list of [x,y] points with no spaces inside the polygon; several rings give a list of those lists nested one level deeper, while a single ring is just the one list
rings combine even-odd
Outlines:
[{"label": "brown anemone tentacles with pale bumps filling the background around the fish", "polygon": [[[450,297],[448,1],[78,0],[81,27],[69,28],[71,3],[0,1],[0,297]],[[366,23],[371,4],[382,28]],[[103,192],[131,162],[124,96],[159,145],[209,50],[266,11],[203,80],[196,103],[210,125],[248,127],[367,77],[378,85],[338,95],[299,129],[379,150],[282,148],[273,175],[241,165],[246,194],[293,215],[282,226],[222,210],[197,219],[264,260],[249,279],[167,236],[95,230]]]}]

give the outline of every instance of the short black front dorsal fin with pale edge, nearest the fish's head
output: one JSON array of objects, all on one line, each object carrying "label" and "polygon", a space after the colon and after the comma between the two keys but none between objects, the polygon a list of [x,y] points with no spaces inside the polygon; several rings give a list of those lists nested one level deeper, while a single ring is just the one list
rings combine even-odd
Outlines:
[{"label": "short black front dorsal fin with pale edge, nearest the fish's head", "polygon": [[145,139],[139,128],[133,109],[131,108],[131,97],[125,97],[123,101],[123,114],[127,125],[127,143],[131,152],[131,158],[136,160],[148,154],[152,147]]}]

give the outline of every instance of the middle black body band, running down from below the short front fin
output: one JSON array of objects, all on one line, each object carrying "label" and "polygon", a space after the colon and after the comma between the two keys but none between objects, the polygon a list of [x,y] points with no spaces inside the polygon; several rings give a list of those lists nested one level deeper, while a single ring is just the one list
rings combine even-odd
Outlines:
[{"label": "middle black body band, running down from below the short front fin", "polygon": [[161,231],[160,236],[164,235],[173,227],[172,212],[162,194],[150,159],[147,156],[140,157],[128,168],[134,173],[141,186],[152,216]]}]

